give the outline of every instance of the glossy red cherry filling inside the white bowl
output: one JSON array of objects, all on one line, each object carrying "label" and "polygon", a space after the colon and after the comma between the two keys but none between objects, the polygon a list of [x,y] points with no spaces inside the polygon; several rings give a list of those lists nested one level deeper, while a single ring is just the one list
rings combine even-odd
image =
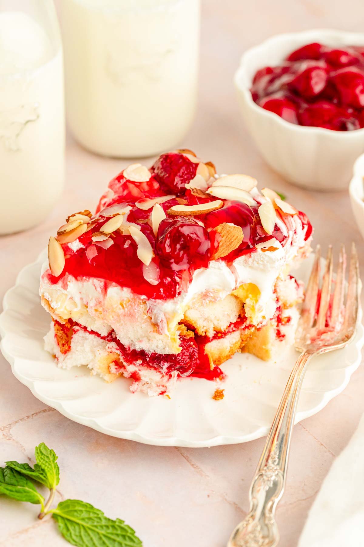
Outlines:
[{"label": "glossy red cherry filling inside the white bowl", "polygon": [[256,72],[253,100],[293,124],[353,131],[364,127],[364,50],[307,44],[280,66]]}]

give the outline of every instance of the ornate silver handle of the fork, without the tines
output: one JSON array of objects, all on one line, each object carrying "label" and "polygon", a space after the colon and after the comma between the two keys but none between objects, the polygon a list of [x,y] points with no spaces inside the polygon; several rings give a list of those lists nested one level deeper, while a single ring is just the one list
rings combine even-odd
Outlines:
[{"label": "ornate silver handle of the fork, without the tines", "polygon": [[[228,547],[278,544],[275,510],[284,492],[297,400],[306,365],[313,354],[313,351],[304,351],[296,360],[250,485],[249,513],[232,532]],[[270,542],[263,543],[267,538],[270,538]]]}]

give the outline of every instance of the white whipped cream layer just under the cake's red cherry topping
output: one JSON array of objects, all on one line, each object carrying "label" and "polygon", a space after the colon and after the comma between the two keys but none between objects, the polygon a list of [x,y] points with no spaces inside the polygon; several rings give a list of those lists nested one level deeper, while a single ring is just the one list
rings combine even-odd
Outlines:
[{"label": "white whipped cream layer just under the cake's red cherry topping", "polygon": [[258,326],[273,317],[277,279],[285,276],[288,265],[309,249],[305,241],[307,226],[297,216],[290,219],[290,226],[281,228],[288,237],[284,247],[276,242],[275,252],[258,248],[231,264],[212,260],[207,268],[194,272],[186,291],[169,300],[147,299],[127,287],[97,278],[76,279],[66,274],[57,283],[51,283],[47,263],[43,265],[40,295],[49,303],[55,319],[71,318],[102,336],[114,330],[120,342],[132,350],[178,353],[177,325],[186,310],[221,300],[240,287],[246,289],[241,297],[251,324]]}]

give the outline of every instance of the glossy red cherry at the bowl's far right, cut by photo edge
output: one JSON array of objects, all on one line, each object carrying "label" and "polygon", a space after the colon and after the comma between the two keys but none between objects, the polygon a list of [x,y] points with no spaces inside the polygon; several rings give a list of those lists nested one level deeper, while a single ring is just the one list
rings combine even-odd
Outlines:
[{"label": "glossy red cherry at the bowl's far right, cut by photo edge", "polygon": [[354,108],[364,107],[364,73],[357,68],[341,68],[331,74],[341,102]]}]

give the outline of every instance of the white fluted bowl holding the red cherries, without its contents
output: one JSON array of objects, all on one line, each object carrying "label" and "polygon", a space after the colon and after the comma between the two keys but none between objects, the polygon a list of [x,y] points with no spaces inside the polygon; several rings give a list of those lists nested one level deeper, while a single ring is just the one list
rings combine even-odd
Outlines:
[{"label": "white fluted bowl holding the red cherries, without its contents", "polygon": [[313,190],[343,190],[356,158],[364,152],[364,129],[332,131],[291,124],[255,104],[250,87],[255,72],[279,65],[302,45],[364,45],[364,33],[311,30],[278,34],[243,54],[235,86],[244,122],[267,163],[289,182]]}]

